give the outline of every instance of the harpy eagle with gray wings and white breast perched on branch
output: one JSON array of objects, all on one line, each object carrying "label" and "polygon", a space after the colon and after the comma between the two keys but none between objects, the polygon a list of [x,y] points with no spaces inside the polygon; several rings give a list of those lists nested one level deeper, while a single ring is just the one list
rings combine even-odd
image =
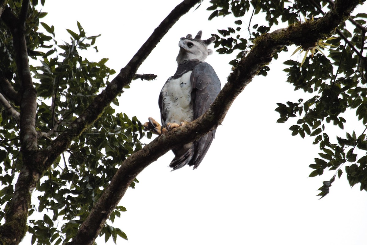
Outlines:
[{"label": "harpy eagle with gray wings and white breast perched on branch", "polygon": [[[168,78],[159,95],[162,126],[153,118],[144,123],[145,130],[161,134],[174,127],[185,125],[197,119],[207,111],[221,90],[221,81],[214,69],[205,61],[212,50],[208,45],[215,41],[212,36],[201,40],[201,30],[195,38],[189,34],[181,37],[177,56],[177,71]],[[203,160],[214,138],[215,130],[199,140],[175,147],[175,158],[170,163],[172,170],[186,164],[196,169]]]}]

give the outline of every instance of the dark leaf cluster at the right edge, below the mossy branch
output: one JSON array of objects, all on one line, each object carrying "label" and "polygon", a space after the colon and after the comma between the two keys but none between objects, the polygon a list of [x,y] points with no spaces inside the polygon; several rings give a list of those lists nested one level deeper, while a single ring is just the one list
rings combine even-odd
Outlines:
[{"label": "dark leaf cluster at the right edge, below the mossy branch", "polygon": [[[357,14],[350,19],[352,23],[365,25],[366,17],[366,14]],[[287,108],[278,104],[276,111],[280,113],[278,122],[285,122],[297,114],[297,125],[290,127],[292,135],[305,137],[308,134],[315,138],[313,144],[319,145],[321,158],[315,158],[315,163],[310,164],[314,169],[310,177],[323,174],[324,169],[334,170],[340,177],[344,165],[350,185],[359,183],[361,190],[367,190],[367,58],[363,48],[366,31],[355,26],[350,32],[345,27],[339,27],[344,36],[336,34],[337,38],[327,41],[330,49],[324,50],[325,54],[318,52],[308,56],[302,66],[298,61],[284,62],[288,66],[284,69],[288,73],[287,82],[295,90],[302,89],[311,96],[298,103],[288,102],[290,106]],[[358,126],[354,125],[355,131],[352,134],[345,132],[346,137],[333,133],[332,138],[335,138],[330,140],[329,132],[333,126],[343,130],[348,123],[345,118],[353,117],[353,114],[360,122]]]}]

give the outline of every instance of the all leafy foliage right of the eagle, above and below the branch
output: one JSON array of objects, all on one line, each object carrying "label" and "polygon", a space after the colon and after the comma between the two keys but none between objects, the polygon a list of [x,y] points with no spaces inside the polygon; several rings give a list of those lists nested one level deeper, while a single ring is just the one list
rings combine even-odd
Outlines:
[{"label": "all leafy foliage right of the eagle, above and below the branch", "polygon": [[[279,22],[288,22],[288,25],[299,21],[313,21],[327,12],[333,2],[322,1],[224,1],[212,0],[208,10],[213,11],[209,19],[217,16],[233,14],[236,17],[237,28],[229,27],[228,30],[218,30],[215,47],[219,54],[232,53],[239,50],[237,60],[230,62],[236,65],[238,59],[246,54],[252,47],[253,40],[263,33],[269,32],[272,26]],[[241,29],[243,18],[250,16],[248,32]],[[257,14],[265,15],[266,24],[251,24],[252,17]],[[333,180],[338,174],[345,172],[351,186],[360,183],[361,190],[367,191],[367,104],[366,104],[366,18],[365,13],[356,13],[349,18],[349,23],[342,24],[334,33],[333,39],[323,42],[321,40],[309,47],[312,55],[305,56],[302,63],[294,60],[284,62],[288,68],[287,82],[295,90],[303,89],[307,99],[300,98],[298,102],[288,101],[286,104],[278,103],[275,109],[280,114],[278,123],[284,123],[289,118],[298,118],[297,124],[290,127],[292,135],[299,134],[302,138],[306,134],[313,137],[313,144],[320,147],[319,158],[309,166],[313,169],[310,177],[322,175],[325,169],[335,171]],[[252,29],[250,29],[252,28]],[[248,40],[241,37],[247,33]],[[246,35],[246,34],[245,34]],[[320,45],[323,44],[323,45]],[[233,45],[234,44],[234,45]],[[330,49],[323,47],[328,45]],[[319,50],[319,51],[316,51]],[[321,53],[322,50],[322,53]],[[284,49],[283,51],[287,51]],[[307,52],[306,52],[307,53]],[[316,53],[316,54],[315,54]],[[275,55],[274,58],[277,58]],[[266,69],[260,73],[266,75]],[[308,96],[310,94],[310,96]],[[360,121],[361,130],[348,133],[346,136],[329,137],[333,125],[344,129],[348,123],[345,114],[355,112]],[[363,130],[364,127],[364,130]],[[359,132],[359,133],[357,133]],[[334,133],[333,133],[334,135]],[[335,137],[335,138],[334,138]],[[357,155],[358,152],[358,155]],[[348,164],[346,164],[348,162]],[[325,182],[325,181],[324,181]],[[330,185],[333,181],[330,182]],[[324,190],[321,195],[328,193]]]}]

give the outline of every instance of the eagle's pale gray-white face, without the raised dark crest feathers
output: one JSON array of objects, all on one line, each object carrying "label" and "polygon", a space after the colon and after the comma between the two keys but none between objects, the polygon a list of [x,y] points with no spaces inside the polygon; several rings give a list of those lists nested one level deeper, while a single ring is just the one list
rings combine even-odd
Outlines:
[{"label": "eagle's pale gray-white face, without the raised dark crest feathers", "polygon": [[193,59],[204,61],[211,51],[208,50],[205,44],[189,39],[180,40],[178,46],[180,47],[180,51],[176,59],[178,63],[184,60]]}]

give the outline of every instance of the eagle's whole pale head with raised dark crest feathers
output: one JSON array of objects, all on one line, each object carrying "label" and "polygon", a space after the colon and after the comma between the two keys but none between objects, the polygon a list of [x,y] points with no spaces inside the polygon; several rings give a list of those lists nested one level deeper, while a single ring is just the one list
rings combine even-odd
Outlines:
[{"label": "eagle's whole pale head with raised dark crest feathers", "polygon": [[195,38],[192,38],[191,34],[181,37],[181,40],[178,42],[180,51],[176,58],[178,64],[185,60],[197,59],[204,61],[208,55],[213,53],[211,49],[208,49],[208,45],[214,42],[216,38],[212,36],[207,40],[201,40],[202,33],[200,30]]}]

